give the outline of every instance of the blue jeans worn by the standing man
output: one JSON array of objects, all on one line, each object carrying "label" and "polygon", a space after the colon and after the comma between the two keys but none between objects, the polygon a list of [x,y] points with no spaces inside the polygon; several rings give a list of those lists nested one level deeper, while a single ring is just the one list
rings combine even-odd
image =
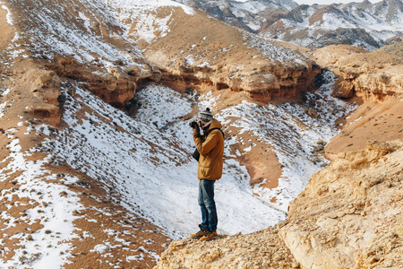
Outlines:
[{"label": "blue jeans worn by the standing man", "polygon": [[210,231],[217,230],[216,202],[214,202],[214,183],[216,180],[199,181],[199,205],[201,208],[201,227]]}]

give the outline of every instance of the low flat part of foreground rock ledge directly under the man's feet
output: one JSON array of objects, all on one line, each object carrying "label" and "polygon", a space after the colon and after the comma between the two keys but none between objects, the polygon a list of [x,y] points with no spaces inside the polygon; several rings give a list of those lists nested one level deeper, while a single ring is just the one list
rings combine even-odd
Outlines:
[{"label": "low flat part of foreground rock ledge directly under the man's feet", "polygon": [[196,239],[173,241],[154,269],[171,268],[299,268],[279,239],[278,228],[209,242]]}]

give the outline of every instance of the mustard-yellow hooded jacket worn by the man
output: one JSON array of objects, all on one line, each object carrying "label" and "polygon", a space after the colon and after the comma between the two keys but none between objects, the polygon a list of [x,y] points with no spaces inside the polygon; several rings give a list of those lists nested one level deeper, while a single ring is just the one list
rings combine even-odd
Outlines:
[{"label": "mustard-yellow hooded jacket worn by the man", "polygon": [[[224,136],[222,126],[217,119],[211,121],[209,129],[204,134],[193,134],[193,141],[200,152],[197,178],[217,180],[222,176],[224,155]],[[213,130],[214,129],[214,130]]]}]

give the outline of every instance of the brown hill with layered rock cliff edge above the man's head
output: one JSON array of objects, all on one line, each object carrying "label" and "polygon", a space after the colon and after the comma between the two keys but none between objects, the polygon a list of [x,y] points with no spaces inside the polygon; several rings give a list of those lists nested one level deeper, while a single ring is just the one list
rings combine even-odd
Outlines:
[{"label": "brown hill with layered rock cliff edge above the man's head", "polygon": [[303,48],[286,48],[203,13],[176,10],[173,19],[164,37],[143,47],[146,61],[162,71],[161,82],[179,90],[212,85],[217,90],[244,91],[253,100],[313,90],[320,68]]}]

